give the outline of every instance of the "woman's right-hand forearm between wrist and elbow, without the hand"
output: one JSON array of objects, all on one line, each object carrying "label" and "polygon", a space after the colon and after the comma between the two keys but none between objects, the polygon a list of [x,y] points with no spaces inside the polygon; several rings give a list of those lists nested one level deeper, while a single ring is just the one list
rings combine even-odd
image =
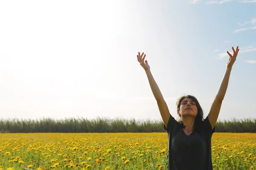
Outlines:
[{"label": "woman's right-hand forearm between wrist and elbow, without the hand", "polygon": [[227,91],[227,85],[228,85],[228,82],[229,82],[231,69],[232,69],[232,67],[231,68],[226,68],[226,72],[225,72],[224,77],[221,81],[221,85],[218,88],[218,93],[215,96],[215,98],[217,98],[221,101],[224,99],[224,96],[225,96],[226,91]]}]

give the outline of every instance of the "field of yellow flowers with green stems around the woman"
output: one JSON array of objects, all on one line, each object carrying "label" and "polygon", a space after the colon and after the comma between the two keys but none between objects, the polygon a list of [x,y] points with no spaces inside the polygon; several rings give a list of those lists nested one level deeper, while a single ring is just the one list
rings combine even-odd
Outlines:
[{"label": "field of yellow flowers with green stems around the woman", "polygon": [[[0,170],[166,170],[167,133],[0,133]],[[214,170],[256,170],[256,133],[214,133]]]}]

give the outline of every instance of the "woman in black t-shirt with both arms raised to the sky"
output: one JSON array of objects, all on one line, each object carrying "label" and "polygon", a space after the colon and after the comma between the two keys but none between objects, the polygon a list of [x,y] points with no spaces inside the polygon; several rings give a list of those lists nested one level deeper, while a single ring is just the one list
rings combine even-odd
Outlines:
[{"label": "woman in black t-shirt with both arms raised to the sky", "polygon": [[221,81],[218,93],[212,103],[208,116],[203,119],[203,110],[198,100],[191,95],[181,96],[177,100],[178,121],[172,117],[165,100],[155,82],[148,61],[142,55],[137,55],[138,62],[144,68],[151,90],[157,100],[157,105],[163,119],[163,129],[168,133],[168,169],[169,170],[212,170],[211,138],[215,132],[215,124],[221,109],[221,103],[227,91],[230,72],[236,56],[238,46],[233,49],[226,66],[226,72]]}]

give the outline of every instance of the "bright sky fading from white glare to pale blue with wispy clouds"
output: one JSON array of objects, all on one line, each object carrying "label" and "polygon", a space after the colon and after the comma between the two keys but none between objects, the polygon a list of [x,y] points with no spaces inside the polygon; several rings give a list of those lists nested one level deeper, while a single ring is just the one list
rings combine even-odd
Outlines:
[{"label": "bright sky fading from white glare to pale blue with wispy clouds", "polygon": [[239,46],[218,121],[256,118],[256,0],[0,1],[0,119],[162,120],[137,54],[177,119],[208,115]]}]

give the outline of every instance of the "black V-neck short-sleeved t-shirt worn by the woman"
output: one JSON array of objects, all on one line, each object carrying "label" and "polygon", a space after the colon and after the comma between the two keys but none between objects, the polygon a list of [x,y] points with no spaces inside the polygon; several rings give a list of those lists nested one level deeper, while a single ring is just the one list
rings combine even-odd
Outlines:
[{"label": "black V-neck short-sleeved t-shirt worn by the woman", "polygon": [[215,126],[212,129],[208,116],[200,133],[193,131],[187,136],[171,114],[163,129],[168,133],[169,170],[212,170],[211,139]]}]

